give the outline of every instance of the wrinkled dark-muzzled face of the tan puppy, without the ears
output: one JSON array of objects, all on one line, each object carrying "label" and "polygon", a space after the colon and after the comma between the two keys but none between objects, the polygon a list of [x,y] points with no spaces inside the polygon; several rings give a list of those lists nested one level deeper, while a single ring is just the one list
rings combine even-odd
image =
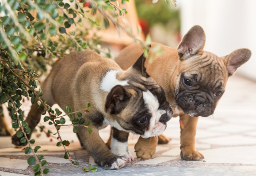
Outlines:
[{"label": "wrinkled dark-muzzled face of the tan puppy, without the ears", "polygon": [[222,60],[210,52],[206,54],[194,62],[184,61],[184,69],[176,84],[175,99],[178,106],[193,117],[207,117],[214,113],[228,78]]}]

